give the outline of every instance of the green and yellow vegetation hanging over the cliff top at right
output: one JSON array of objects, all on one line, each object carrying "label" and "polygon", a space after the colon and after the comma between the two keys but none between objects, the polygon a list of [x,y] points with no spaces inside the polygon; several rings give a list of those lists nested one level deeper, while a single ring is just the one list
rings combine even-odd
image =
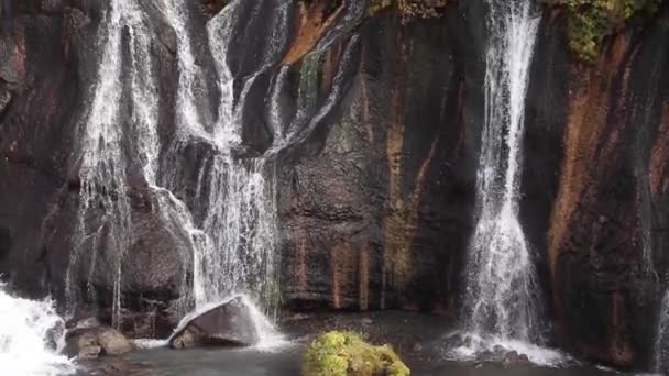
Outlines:
[{"label": "green and yellow vegetation hanging over the cliff top at right", "polygon": [[594,63],[606,36],[635,19],[657,12],[663,0],[548,0],[567,10],[569,47],[585,63]]}]

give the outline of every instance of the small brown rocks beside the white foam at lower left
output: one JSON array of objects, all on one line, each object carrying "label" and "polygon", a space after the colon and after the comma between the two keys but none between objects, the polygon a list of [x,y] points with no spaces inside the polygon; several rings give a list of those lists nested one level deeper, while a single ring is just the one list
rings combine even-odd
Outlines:
[{"label": "small brown rocks beside the white foam at lower left", "polygon": [[132,344],[118,330],[110,327],[77,328],[66,334],[65,353],[80,360],[99,355],[121,355],[132,350]]}]

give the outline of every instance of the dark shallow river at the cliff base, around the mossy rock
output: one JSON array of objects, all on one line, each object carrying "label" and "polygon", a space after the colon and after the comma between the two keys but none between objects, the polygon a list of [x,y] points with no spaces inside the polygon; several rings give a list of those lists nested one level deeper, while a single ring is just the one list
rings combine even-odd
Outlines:
[{"label": "dark shallow river at the cliff base, around the mossy rock", "polygon": [[122,357],[83,364],[80,375],[128,376],[298,376],[300,358],[310,335],[325,330],[353,330],[372,342],[391,343],[403,356],[412,375],[425,376],[600,376],[623,374],[568,361],[570,365],[539,367],[449,361],[452,329],[443,318],[406,312],[298,316],[281,324],[286,342],[268,350],[155,347]]}]

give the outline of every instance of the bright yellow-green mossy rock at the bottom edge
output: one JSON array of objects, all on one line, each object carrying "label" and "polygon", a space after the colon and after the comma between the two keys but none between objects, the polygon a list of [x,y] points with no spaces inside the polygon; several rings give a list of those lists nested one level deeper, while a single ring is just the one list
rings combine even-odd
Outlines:
[{"label": "bright yellow-green mossy rock at the bottom edge", "polygon": [[366,343],[352,332],[319,335],[305,353],[304,376],[408,376],[409,368],[390,345]]}]

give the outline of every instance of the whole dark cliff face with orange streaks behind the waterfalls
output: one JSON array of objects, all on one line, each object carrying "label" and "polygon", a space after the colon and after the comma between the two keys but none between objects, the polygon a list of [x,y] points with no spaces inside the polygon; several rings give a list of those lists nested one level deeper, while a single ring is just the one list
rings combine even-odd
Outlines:
[{"label": "whole dark cliff face with orange streaks behind the waterfalls", "polygon": [[[0,273],[32,295],[64,294],[78,204],[76,130],[95,76],[100,3],[13,1],[3,13]],[[246,154],[268,147],[272,117],[299,129],[299,142],[276,157],[284,303],[456,318],[483,123],[482,2],[452,3],[441,19],[408,24],[393,12],[364,16],[355,2],[289,7],[290,26],[272,56],[260,53],[276,43],[267,36],[272,1],[241,7],[229,60],[240,82],[266,65],[244,103]],[[146,9],[156,13],[151,54],[168,140],[176,42]],[[202,42],[207,9],[193,5],[193,32],[198,64],[213,75]],[[558,341],[599,361],[643,366],[658,291],[669,281],[669,7],[608,40],[594,66],[571,56],[563,22],[559,11],[545,12],[533,63],[523,225]],[[217,101],[216,93],[202,100],[202,111]],[[191,207],[197,174],[188,166],[202,153],[187,148],[180,162],[176,193]],[[139,228],[123,259],[125,324],[160,333],[178,319],[172,308],[191,261],[155,219],[145,184],[131,188]],[[85,302],[102,316],[111,306],[108,266],[77,276],[98,297]]]}]

